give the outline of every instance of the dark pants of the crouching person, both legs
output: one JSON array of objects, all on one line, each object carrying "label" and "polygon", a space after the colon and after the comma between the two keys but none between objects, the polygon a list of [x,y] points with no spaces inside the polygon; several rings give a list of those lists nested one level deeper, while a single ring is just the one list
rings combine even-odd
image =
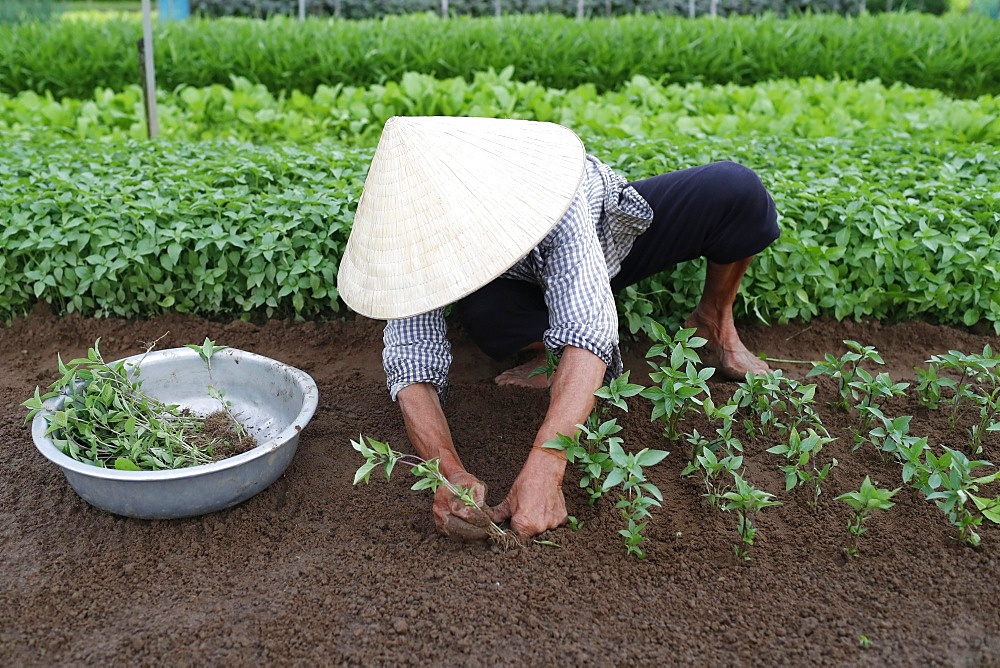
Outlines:
[{"label": "dark pants of the crouching person, both legs", "polygon": [[[680,262],[704,257],[729,264],[756,255],[778,238],[774,200],[760,178],[734,162],[716,162],[631,183],[653,209],[611,279],[621,290]],[[542,340],[549,326],[542,288],[497,278],[455,305],[472,340],[500,360]]]}]

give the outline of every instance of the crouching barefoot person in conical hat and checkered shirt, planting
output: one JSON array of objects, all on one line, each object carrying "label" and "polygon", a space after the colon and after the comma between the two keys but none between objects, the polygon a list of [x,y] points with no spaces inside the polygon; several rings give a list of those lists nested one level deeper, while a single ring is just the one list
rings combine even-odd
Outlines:
[{"label": "crouching barefoot person in conical hat and checkered shirt, planting", "polygon": [[[753,257],[778,234],[770,194],[733,162],[628,183],[560,125],[395,117],[372,158],[338,290],[358,313],[387,320],[387,386],[418,454],[437,458],[493,521],[509,520],[527,538],[567,518],[565,456],[543,444],[574,434],[594,392],[622,372],[614,292],[706,258],[687,326],[707,340],[703,357],[725,378],[762,373],[767,364],[740,340],[732,308]],[[527,459],[493,508],[462,464],[442,407],[452,360],[446,306],[491,357],[533,354],[496,383],[549,387]],[[555,373],[531,377],[545,351],[559,359]],[[446,535],[476,535],[470,529],[483,523],[444,487],[433,514]]]}]

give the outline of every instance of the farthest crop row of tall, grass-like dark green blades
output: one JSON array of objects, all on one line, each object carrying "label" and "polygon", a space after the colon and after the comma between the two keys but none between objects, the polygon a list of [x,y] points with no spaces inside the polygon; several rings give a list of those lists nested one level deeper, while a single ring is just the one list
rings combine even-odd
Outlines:
[{"label": "farthest crop row of tall, grass-like dark green blades", "polygon": [[[0,26],[0,92],[88,98],[139,83],[137,20]],[[379,21],[275,18],[159,23],[157,81],[230,83],[238,74],[271,91],[369,86],[406,72],[471,79],[513,66],[551,88],[614,90],[634,76],[671,83],[751,84],[777,78],[903,82],[961,97],[1000,92],[1000,23],[986,17],[877,15],[724,21],[561,16]]]}]

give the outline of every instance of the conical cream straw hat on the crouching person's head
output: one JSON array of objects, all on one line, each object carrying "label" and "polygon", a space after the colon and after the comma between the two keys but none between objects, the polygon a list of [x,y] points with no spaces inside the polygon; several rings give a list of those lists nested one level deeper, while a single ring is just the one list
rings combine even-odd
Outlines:
[{"label": "conical cream straw hat on the crouching person's head", "polygon": [[585,163],[580,138],[554,123],[390,118],[340,263],[341,298],[394,319],[474,292],[563,217]]}]

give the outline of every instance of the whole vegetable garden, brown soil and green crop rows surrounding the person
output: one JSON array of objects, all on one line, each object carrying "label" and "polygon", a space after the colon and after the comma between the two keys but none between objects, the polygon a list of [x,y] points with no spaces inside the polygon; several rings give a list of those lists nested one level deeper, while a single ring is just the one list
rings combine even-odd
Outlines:
[{"label": "whole vegetable garden, brown soil and green crop rows surrounding the person", "polygon": [[[160,24],[157,140],[138,34],[0,25],[3,663],[1000,661],[996,21]],[[558,122],[629,178],[756,170],[782,236],[737,316],[773,373],[700,367],[678,329],[698,263],[648,279],[619,295],[629,376],[552,444],[570,524],[437,536],[408,472],[376,466],[406,433],[381,328],[335,289],[393,115]],[[452,335],[446,412],[495,503],[547,396],[496,387],[504,365]],[[261,352],[312,375],[319,409],[241,505],[110,515],[23,426],[56,355],[98,338],[107,360]]]}]

